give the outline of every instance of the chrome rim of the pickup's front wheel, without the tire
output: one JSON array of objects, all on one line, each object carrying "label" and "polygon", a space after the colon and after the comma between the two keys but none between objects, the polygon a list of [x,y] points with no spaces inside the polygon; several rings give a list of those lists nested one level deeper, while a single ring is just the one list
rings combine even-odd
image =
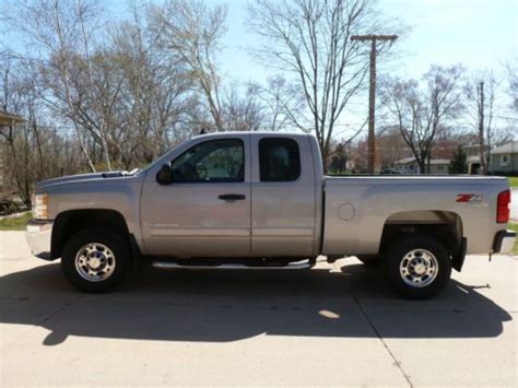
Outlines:
[{"label": "chrome rim of the pickup's front wheel, without the tire", "polygon": [[115,271],[115,255],[106,245],[90,243],[75,255],[75,270],[89,282],[101,282]]}]

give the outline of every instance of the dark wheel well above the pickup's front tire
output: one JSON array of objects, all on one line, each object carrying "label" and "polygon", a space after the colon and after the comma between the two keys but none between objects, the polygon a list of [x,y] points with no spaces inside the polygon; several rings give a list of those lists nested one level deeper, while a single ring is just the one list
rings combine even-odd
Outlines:
[{"label": "dark wheel well above the pickup's front tire", "polygon": [[50,255],[54,259],[61,257],[67,240],[86,227],[102,227],[119,232],[129,237],[128,225],[122,214],[109,209],[70,210],[60,213],[52,226]]}]

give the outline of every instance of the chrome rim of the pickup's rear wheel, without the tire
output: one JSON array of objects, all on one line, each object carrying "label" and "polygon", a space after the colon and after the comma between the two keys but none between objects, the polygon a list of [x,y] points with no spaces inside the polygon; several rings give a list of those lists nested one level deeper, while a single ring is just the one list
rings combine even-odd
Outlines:
[{"label": "chrome rim of the pickup's rear wheel, without the tire", "polygon": [[404,255],[399,264],[404,283],[412,287],[425,287],[434,282],[439,272],[437,258],[426,249],[413,249]]}]

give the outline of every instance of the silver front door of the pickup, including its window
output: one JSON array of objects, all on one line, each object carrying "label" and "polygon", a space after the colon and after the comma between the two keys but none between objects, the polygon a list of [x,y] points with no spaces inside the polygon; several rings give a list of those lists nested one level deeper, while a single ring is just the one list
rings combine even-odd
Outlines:
[{"label": "silver front door of the pickup, including its window", "polygon": [[236,257],[250,254],[249,137],[198,143],[170,161],[173,183],[149,174],[141,223],[149,255]]}]

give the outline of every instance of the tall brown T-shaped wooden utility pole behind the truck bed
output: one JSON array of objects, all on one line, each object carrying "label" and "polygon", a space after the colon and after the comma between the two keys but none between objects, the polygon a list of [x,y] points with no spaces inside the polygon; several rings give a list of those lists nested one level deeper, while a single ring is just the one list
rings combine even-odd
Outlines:
[{"label": "tall brown T-shaped wooden utility pole behind the truck bed", "polygon": [[398,35],[353,35],[351,40],[370,40],[369,85],[368,85],[368,174],[374,174],[376,163],[375,105],[376,105],[376,55],[378,42],[393,42]]}]

